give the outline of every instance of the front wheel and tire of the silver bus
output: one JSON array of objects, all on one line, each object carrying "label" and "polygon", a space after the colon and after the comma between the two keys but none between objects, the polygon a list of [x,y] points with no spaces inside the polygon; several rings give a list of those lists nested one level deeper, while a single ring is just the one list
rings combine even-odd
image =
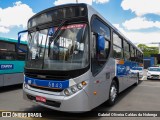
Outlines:
[{"label": "front wheel and tire of the silver bus", "polygon": [[118,97],[118,85],[117,85],[117,82],[113,80],[110,86],[109,99],[107,101],[107,104],[109,106],[114,105],[117,97]]}]

